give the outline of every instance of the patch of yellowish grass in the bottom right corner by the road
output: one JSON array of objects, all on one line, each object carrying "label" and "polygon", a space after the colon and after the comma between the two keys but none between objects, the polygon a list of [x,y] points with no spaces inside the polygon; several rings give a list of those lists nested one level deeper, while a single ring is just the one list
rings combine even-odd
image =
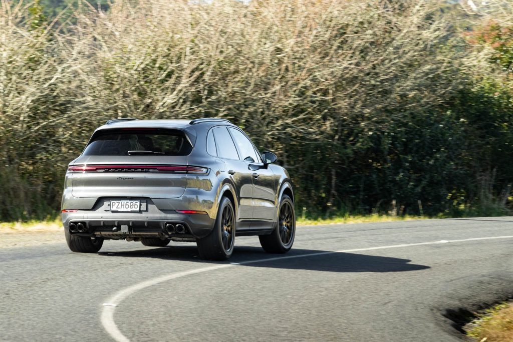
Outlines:
[{"label": "patch of yellowish grass in the bottom right corner by the road", "polygon": [[485,310],[468,324],[466,331],[479,342],[512,342],[513,302]]}]

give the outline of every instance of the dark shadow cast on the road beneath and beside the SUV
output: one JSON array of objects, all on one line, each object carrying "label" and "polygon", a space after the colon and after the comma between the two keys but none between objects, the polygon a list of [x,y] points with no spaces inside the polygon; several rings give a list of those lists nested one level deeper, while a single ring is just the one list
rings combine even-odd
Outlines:
[{"label": "dark shadow cast on the road beneath and beside the SUV", "polygon": [[307,249],[292,249],[287,254],[267,254],[260,247],[247,246],[235,247],[233,256],[229,260],[218,262],[201,260],[198,257],[198,250],[193,246],[109,251],[100,252],[98,255],[193,261],[198,264],[234,263],[248,267],[324,272],[404,272],[429,268],[429,266],[409,264],[411,260],[408,259],[387,256]]}]

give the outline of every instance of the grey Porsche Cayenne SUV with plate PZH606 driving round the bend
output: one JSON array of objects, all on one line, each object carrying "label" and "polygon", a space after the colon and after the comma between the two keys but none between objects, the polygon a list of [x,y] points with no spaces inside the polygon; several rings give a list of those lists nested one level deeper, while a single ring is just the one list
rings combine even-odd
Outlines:
[{"label": "grey Porsche Cayenne SUV with plate PZH606 driving round the bend", "polygon": [[294,242],[287,171],[225,119],[114,119],[97,128],[66,172],[62,221],[73,252],[105,239],[164,247],[196,242],[227,259],[235,235],[258,235],[269,253]]}]

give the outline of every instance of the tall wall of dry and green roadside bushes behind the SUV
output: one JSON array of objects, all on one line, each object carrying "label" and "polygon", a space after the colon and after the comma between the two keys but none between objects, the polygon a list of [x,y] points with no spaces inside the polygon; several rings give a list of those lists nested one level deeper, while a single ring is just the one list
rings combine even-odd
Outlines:
[{"label": "tall wall of dry and green roadside bushes behind the SUV", "polygon": [[55,215],[116,117],[232,120],[298,215],[511,209],[511,1],[0,1],[0,220]]}]

